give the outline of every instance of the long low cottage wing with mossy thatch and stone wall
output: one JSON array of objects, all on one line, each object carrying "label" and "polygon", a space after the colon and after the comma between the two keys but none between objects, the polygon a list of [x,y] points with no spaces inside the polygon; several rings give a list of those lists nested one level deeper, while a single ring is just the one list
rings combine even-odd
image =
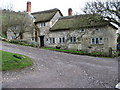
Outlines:
[{"label": "long low cottage wing with mossy thatch and stone wall", "polygon": [[[116,50],[117,28],[99,15],[61,17],[50,28],[49,47],[108,52]],[[51,40],[52,39],[52,40]]]}]

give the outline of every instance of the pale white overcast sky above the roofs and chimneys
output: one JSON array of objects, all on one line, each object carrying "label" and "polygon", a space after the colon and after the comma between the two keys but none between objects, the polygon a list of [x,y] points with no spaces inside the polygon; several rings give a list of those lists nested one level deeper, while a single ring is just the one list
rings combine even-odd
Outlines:
[{"label": "pale white overcast sky above the roofs and chimneys", "polygon": [[27,1],[31,1],[32,12],[58,8],[66,16],[68,8],[72,8],[73,14],[81,14],[81,8],[84,7],[85,3],[93,0],[0,0],[2,2],[0,7],[6,8],[8,5],[12,5],[14,11],[26,11]]}]

